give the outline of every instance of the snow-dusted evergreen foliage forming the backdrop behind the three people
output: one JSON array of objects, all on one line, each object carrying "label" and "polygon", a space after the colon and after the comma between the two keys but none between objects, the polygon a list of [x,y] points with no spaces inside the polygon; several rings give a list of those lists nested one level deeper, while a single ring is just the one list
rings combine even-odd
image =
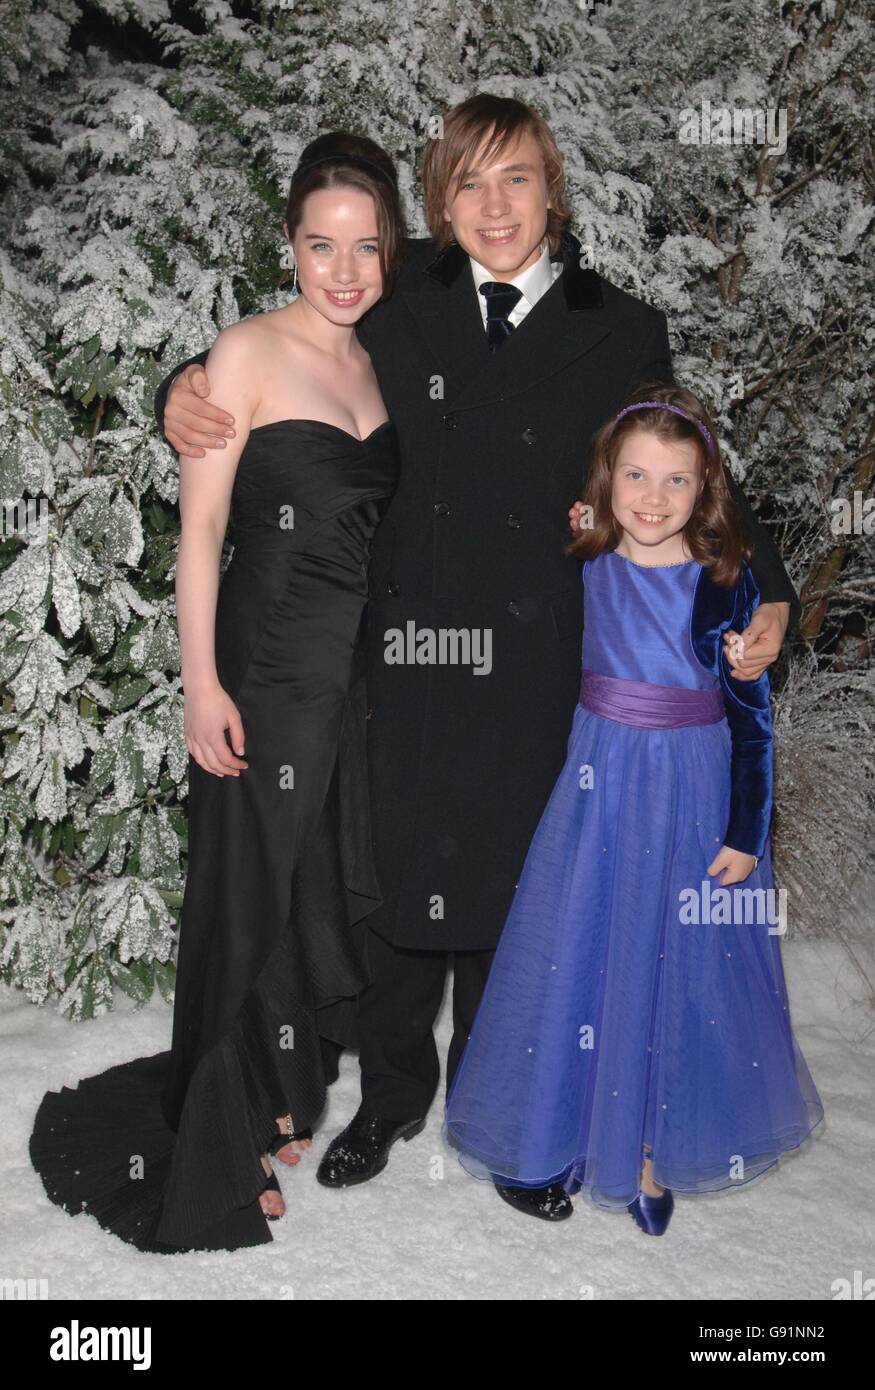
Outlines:
[{"label": "snow-dusted evergreen foliage forming the backdrop behind the three people", "polygon": [[[793,923],[819,930],[851,870],[872,867],[872,541],[830,507],[868,498],[874,463],[862,0],[4,11],[4,976],[75,1016],[115,986],[170,997],[188,755],[177,464],[154,388],[218,328],[284,300],[282,204],[307,140],[378,139],[423,235],[430,122],[479,89],[549,120],[573,229],[600,271],[666,310],[676,371],[714,404],[808,599],[779,671],[775,838],[801,885]],[[783,110],[786,149],[719,145],[726,108]],[[10,524],[26,499],[45,523],[31,531]],[[837,802],[843,824],[818,838]]]}]

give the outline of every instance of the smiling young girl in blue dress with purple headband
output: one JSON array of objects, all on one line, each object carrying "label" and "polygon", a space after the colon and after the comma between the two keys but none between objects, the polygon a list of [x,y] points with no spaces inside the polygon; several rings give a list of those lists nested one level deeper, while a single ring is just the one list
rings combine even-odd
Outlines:
[{"label": "smiling young girl in blue dress with purple headband", "polygon": [[758,589],[697,398],[632,398],[583,500],[580,703],[444,1133],[474,1176],[662,1234],[672,1191],[750,1182],[824,1109],[780,962],[768,676],[722,651]]}]

